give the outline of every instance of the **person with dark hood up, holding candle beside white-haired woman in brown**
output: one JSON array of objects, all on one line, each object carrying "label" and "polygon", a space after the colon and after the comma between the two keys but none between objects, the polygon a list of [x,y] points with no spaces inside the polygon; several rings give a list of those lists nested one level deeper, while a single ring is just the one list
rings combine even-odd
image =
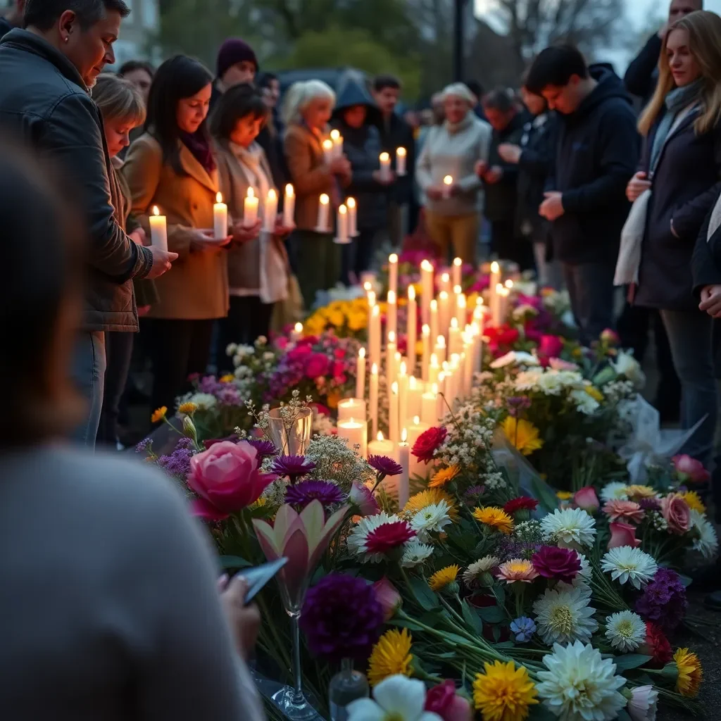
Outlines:
[{"label": "person with dark hood up, holding candle beside white-haired woman in brown", "polygon": [[341,280],[346,285],[358,282],[368,270],[376,247],[376,237],[386,224],[388,186],[393,174],[381,174],[381,133],[376,117],[379,111],[370,94],[353,80],[340,91],[331,125],[343,138],[343,152],[353,176],[345,189],[358,208],[357,239],[342,247]]}]

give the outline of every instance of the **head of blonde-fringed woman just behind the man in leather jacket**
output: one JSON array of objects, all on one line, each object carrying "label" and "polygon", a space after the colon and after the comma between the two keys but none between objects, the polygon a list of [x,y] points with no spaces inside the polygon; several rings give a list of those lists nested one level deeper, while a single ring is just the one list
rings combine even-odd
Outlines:
[{"label": "head of blonde-fringed woman just behind the man in leather jacket", "polygon": [[92,99],[102,114],[107,151],[114,158],[131,144],[133,128],[145,122],[145,100],[131,81],[109,73],[98,77]]}]

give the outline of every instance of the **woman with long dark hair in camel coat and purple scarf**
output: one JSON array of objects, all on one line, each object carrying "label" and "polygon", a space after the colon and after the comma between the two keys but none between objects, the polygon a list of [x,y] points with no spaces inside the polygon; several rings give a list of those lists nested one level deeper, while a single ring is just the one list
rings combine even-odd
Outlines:
[{"label": "woman with long dark hair in camel coat and purple scarf", "polygon": [[168,247],[178,254],[172,275],[156,283],[149,312],[154,408],[174,407],[191,373],[208,363],[213,321],[228,313],[228,239],[213,237],[220,189],[205,118],[213,76],[197,60],[175,56],[153,80],[146,132],[128,151],[123,174],[133,214],[150,234],[154,207],[167,216]]}]

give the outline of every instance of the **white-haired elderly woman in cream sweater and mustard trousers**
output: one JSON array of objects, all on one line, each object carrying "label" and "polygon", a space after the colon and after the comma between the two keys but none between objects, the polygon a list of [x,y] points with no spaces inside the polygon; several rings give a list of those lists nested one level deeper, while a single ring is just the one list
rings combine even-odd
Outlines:
[{"label": "white-haired elderly woman in cream sweater and mustard trousers", "polygon": [[[425,195],[425,220],[443,260],[449,251],[476,262],[482,211],[482,182],[477,162],[487,162],[492,130],[473,112],[475,99],[463,84],[443,91],[446,120],[428,131],[416,167]],[[451,177],[450,184],[444,180]]]}]

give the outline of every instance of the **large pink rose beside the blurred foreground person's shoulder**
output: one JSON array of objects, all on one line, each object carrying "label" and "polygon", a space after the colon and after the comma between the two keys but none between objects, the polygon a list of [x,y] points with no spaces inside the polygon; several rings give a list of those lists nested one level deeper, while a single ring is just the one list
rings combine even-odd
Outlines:
[{"label": "large pink rose beside the blurred foreground person's shoulder", "polygon": [[199,496],[196,516],[222,521],[255,503],[275,476],[260,473],[260,458],[247,441],[221,441],[190,459],[187,485]]}]

